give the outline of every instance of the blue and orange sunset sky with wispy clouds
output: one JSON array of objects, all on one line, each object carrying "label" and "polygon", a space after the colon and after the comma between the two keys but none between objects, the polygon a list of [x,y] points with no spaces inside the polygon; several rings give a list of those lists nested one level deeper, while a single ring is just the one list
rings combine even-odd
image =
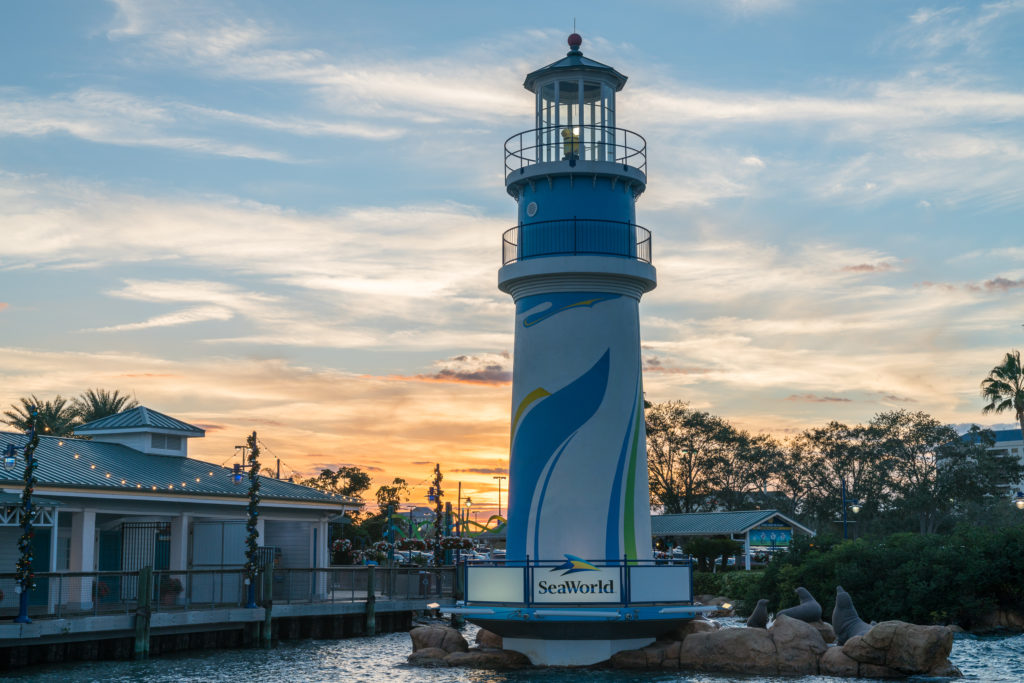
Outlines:
[{"label": "blue and orange sunset sky with wispy clouds", "polygon": [[1024,347],[1024,0],[0,6],[0,404],[92,387],[494,510],[503,142],[566,36],[629,77],[648,400],[966,425]]}]

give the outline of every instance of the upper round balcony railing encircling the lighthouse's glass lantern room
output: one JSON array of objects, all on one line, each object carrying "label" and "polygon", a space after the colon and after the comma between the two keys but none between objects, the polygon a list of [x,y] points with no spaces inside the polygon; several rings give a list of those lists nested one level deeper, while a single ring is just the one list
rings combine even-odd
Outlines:
[{"label": "upper round balcony railing encircling the lighthouse's glass lantern room", "polygon": [[625,128],[547,126],[505,140],[505,174],[545,162],[604,161],[647,174],[647,140]]}]

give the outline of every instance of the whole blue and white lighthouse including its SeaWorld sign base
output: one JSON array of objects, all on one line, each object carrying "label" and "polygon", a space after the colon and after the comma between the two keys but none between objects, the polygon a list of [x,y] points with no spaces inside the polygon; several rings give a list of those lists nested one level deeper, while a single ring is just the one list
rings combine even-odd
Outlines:
[{"label": "whole blue and white lighthouse including its SeaWorld sign base", "polygon": [[463,566],[445,611],[535,665],[642,647],[706,608],[690,566],[657,564],[640,358],[640,298],[654,289],[644,138],[617,126],[626,76],[566,55],[526,76],[535,126],[505,142],[517,220],[498,287],[515,304],[506,560]]}]

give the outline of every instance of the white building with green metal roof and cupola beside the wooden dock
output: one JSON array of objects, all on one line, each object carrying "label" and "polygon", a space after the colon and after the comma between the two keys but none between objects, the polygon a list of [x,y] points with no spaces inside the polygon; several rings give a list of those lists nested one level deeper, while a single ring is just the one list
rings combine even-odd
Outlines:
[{"label": "white building with green metal roof and cupola beside the wooden dock", "polygon": [[[221,568],[245,563],[248,480],[189,458],[203,429],[137,407],[82,425],[75,437],[40,436],[33,501],[36,571]],[[18,505],[28,437],[0,432],[0,452],[18,454],[0,469],[0,573],[14,570]],[[260,477],[259,545],[283,567],[326,566],[328,523],[358,510],[357,499]],[[0,582],[2,584],[3,582]],[[96,599],[84,582],[81,601]],[[0,610],[16,605],[0,585]],[[34,600],[47,599],[34,591]]]}]

